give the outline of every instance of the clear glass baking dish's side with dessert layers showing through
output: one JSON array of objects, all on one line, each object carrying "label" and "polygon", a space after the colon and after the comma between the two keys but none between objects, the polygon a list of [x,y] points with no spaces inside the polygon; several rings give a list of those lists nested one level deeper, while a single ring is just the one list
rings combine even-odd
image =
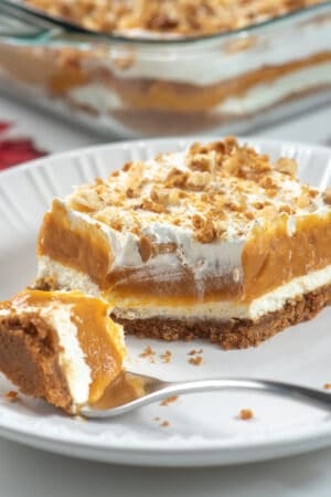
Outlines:
[{"label": "clear glass baking dish's side with dessert layers showing through", "polygon": [[331,103],[331,1],[194,39],[2,14],[0,88],[106,137],[248,133]]}]

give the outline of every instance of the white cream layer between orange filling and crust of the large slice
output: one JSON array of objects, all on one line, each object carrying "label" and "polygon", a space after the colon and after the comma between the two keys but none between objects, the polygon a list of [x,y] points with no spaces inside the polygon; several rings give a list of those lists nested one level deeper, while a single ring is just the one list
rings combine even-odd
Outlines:
[{"label": "white cream layer between orange filling and crust of the large slice", "polygon": [[[75,285],[78,285],[75,287],[76,289],[88,293],[89,288],[94,285],[92,282],[86,285],[88,277],[85,274],[51,261],[49,257],[40,257],[40,277],[52,275],[60,286],[62,286],[62,282],[66,282],[67,284],[72,279],[75,282]],[[280,310],[287,302],[296,297],[330,284],[331,265],[305,276],[297,277],[247,304],[223,300],[203,304],[196,303],[192,306],[161,306],[157,302],[141,302],[139,298],[130,298],[121,299],[120,305],[111,302],[110,305],[114,305],[113,311],[117,317],[126,319],[148,319],[152,317],[215,320],[227,320],[231,318],[258,319],[268,313]],[[64,286],[64,289],[73,289],[73,287]],[[97,290],[96,285],[95,290]],[[100,290],[98,292],[100,295]]]}]

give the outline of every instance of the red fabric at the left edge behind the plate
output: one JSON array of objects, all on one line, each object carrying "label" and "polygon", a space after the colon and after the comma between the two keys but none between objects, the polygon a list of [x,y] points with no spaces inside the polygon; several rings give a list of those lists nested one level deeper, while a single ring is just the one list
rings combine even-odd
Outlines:
[{"label": "red fabric at the left edge behind the plate", "polygon": [[45,151],[39,150],[30,138],[7,137],[4,133],[12,126],[11,123],[0,121],[0,170],[46,155]]}]

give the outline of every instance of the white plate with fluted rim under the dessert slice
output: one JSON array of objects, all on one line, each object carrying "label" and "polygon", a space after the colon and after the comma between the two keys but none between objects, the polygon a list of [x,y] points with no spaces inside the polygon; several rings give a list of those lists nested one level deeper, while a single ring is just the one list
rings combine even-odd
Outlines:
[{"label": "white plate with fluted rim under the dessert slice", "polygon": [[[205,138],[204,138],[205,139]],[[301,179],[325,188],[331,151],[322,147],[249,139],[271,158],[298,159]],[[35,274],[35,240],[43,212],[54,195],[106,176],[132,159],[183,148],[188,140],[122,142],[47,157],[0,175],[0,297],[29,284]],[[206,342],[158,342],[128,338],[134,369],[175,380],[243,376],[322,388],[331,382],[331,309],[287,329],[256,349],[222,351]],[[147,345],[154,363],[140,358]],[[203,364],[188,352],[203,348]],[[167,349],[173,359],[164,364]],[[111,421],[82,421],[42,401],[3,395],[12,388],[0,379],[0,434],[35,447],[90,459],[151,466],[206,466],[259,461],[331,445],[331,416],[318,409],[261,393],[182,395],[168,406],[150,405]],[[254,419],[241,421],[242,408]],[[163,421],[169,426],[160,426]]]}]

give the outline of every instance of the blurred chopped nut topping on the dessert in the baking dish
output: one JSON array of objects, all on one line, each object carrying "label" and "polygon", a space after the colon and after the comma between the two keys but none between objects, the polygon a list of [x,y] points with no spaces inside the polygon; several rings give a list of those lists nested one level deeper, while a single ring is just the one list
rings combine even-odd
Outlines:
[{"label": "blurred chopped nut topping on the dessert in the baking dish", "polygon": [[[196,36],[245,28],[306,6],[313,6],[321,0],[26,1],[51,15],[63,17],[93,31],[122,33],[139,29]],[[241,39],[241,42],[227,45],[226,51],[247,50],[254,42],[254,36],[246,36]],[[124,68],[129,61],[124,57]]]}]

